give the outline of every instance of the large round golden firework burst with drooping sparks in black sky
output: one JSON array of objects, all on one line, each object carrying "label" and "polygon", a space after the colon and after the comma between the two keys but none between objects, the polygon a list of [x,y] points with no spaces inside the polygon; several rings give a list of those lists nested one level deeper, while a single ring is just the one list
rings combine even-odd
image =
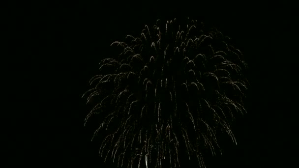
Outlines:
[{"label": "large round golden firework burst with drooping sparks in black sky", "polygon": [[[158,22],[157,22],[158,23]],[[161,23],[161,22],[159,22]],[[243,108],[247,89],[241,52],[216,29],[195,20],[145,26],[139,37],[116,41],[121,53],[100,62],[100,75],[86,92],[99,115],[99,154],[120,167],[180,167],[220,151],[217,132],[237,144],[230,122]]]}]

